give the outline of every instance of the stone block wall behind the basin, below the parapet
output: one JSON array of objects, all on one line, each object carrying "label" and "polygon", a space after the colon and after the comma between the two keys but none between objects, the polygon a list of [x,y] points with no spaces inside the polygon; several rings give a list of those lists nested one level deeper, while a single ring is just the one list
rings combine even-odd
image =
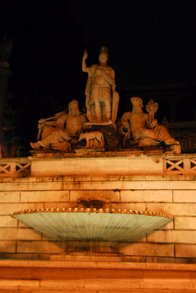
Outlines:
[{"label": "stone block wall behind the basin, below the parapet", "polygon": [[71,208],[81,199],[94,197],[107,207],[175,216],[174,222],[138,243],[118,244],[127,260],[196,263],[195,174],[22,176],[0,179],[0,258],[49,259],[64,251],[62,241],[12,218],[14,211]]}]

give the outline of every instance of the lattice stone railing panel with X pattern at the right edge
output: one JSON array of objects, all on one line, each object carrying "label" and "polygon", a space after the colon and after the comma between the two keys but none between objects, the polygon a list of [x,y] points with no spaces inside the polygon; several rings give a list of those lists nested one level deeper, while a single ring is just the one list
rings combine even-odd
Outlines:
[{"label": "lattice stone railing panel with X pattern at the right edge", "polygon": [[196,158],[163,159],[163,171],[170,173],[196,173]]}]

